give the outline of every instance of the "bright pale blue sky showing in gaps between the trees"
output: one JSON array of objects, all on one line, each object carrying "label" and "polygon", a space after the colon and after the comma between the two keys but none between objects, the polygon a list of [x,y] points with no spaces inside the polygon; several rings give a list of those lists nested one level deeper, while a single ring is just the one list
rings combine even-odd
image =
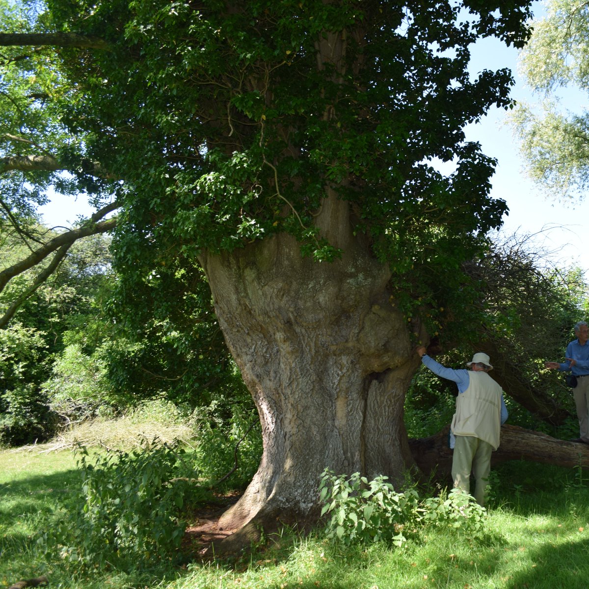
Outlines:
[{"label": "bright pale blue sky showing in gaps between the trees", "polygon": [[[542,13],[541,2],[534,2],[535,15]],[[535,102],[534,97],[517,71],[518,51],[505,47],[494,39],[479,41],[472,50],[472,71],[484,68],[511,68],[515,77],[512,97]],[[563,104],[575,110],[583,106],[580,94],[565,92]],[[589,275],[589,248],[583,253],[583,240],[589,231],[589,202],[561,204],[547,199],[525,177],[523,161],[511,128],[505,124],[505,111],[492,110],[481,123],[469,125],[469,140],[479,141],[485,154],[497,158],[498,166],[492,178],[491,196],[507,201],[509,214],[505,217],[505,234],[535,235],[538,248],[552,254],[552,261],[560,267],[580,266]],[[90,207],[84,197],[72,201],[71,197],[56,196],[52,204],[44,207],[45,222],[51,225],[73,223],[78,214],[89,214]]]}]

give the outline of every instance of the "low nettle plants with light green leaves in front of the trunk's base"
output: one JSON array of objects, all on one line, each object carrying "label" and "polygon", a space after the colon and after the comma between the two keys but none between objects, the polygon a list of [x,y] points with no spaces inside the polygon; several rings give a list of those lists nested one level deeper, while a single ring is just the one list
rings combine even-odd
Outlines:
[{"label": "low nettle plants with light green leaves in front of the trunk's base", "polygon": [[372,481],[355,472],[350,477],[323,471],[319,485],[327,538],[346,545],[388,542],[403,545],[426,526],[479,539],[486,510],[461,489],[422,499],[414,488],[396,492],[387,477]]}]

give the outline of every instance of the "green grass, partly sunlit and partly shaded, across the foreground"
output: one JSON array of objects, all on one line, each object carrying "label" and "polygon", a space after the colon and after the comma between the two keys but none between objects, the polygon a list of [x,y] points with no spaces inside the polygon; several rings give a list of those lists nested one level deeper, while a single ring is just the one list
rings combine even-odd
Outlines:
[{"label": "green grass, partly sunlit and partly shaded, across the foreground", "polygon": [[401,548],[349,547],[317,534],[272,535],[252,554],[207,564],[81,574],[37,545],[80,493],[71,451],[0,452],[0,587],[46,574],[50,587],[330,589],[585,588],[589,487],[585,473],[524,462],[494,469],[482,541],[422,530]]}]

